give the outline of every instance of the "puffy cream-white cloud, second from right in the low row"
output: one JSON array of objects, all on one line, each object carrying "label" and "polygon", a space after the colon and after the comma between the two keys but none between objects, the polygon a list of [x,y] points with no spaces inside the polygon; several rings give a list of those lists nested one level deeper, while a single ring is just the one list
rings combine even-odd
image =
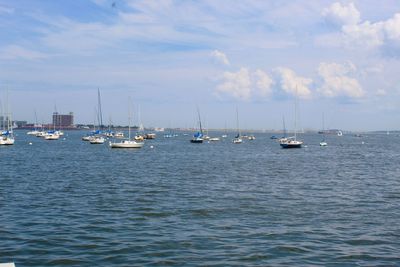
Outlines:
[{"label": "puffy cream-white cloud, second from right in the low row", "polygon": [[297,95],[300,98],[311,97],[309,86],[313,82],[312,79],[298,76],[293,70],[283,67],[276,68],[275,73],[281,90],[290,95]]}]

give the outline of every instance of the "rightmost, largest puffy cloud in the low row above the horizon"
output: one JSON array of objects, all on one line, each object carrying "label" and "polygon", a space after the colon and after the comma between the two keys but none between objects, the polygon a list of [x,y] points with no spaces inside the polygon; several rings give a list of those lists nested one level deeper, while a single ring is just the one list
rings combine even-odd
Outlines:
[{"label": "rightmost, largest puffy cloud in the low row above the horizon", "polygon": [[318,92],[326,97],[363,97],[364,91],[360,83],[355,78],[349,77],[355,71],[356,67],[352,63],[321,63],[318,74],[322,78],[322,85],[318,88]]}]

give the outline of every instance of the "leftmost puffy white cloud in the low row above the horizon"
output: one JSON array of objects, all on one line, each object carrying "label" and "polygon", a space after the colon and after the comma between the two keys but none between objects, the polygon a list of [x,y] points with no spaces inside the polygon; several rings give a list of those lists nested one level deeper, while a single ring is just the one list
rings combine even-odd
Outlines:
[{"label": "leftmost puffy white cloud in the low row above the horizon", "polygon": [[224,82],[217,86],[217,92],[230,94],[237,99],[248,100],[251,96],[251,78],[247,68],[238,72],[224,72]]}]

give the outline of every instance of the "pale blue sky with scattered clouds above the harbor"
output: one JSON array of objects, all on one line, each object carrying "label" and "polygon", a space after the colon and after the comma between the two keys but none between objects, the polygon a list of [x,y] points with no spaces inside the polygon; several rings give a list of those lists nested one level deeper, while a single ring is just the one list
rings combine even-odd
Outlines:
[{"label": "pale blue sky with scattered clouds above the harbor", "polygon": [[398,0],[0,0],[16,120],[399,130],[399,70]]}]

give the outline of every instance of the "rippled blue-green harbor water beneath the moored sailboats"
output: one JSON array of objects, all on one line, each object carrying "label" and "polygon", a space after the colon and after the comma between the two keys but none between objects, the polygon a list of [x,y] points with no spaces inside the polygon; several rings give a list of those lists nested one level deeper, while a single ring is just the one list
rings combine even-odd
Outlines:
[{"label": "rippled blue-green harbor water beneath the moored sailboats", "polygon": [[240,145],[158,136],[111,150],[67,134],[18,132],[0,147],[0,262],[400,264],[398,135],[328,136],[328,147],[305,135],[293,150],[269,134]]}]

